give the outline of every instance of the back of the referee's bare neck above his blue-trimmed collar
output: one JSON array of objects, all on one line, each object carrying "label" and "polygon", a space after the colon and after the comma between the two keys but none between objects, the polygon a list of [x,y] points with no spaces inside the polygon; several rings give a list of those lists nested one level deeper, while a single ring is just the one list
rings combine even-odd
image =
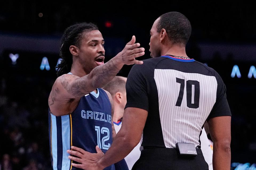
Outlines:
[{"label": "back of the referee's bare neck above his blue-trimmed collar", "polygon": [[173,44],[162,50],[161,56],[164,56],[167,54],[180,56],[180,57],[188,57],[186,54],[186,47],[182,45],[177,45],[177,44]]}]

